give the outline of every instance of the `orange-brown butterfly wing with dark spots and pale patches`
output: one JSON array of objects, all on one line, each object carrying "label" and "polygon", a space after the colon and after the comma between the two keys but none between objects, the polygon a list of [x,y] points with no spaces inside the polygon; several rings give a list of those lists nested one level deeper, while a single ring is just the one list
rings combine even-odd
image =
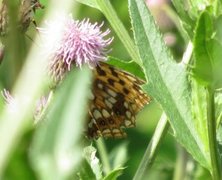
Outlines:
[{"label": "orange-brown butterfly wing with dark spots and pale patches", "polygon": [[150,101],[140,88],[144,82],[106,63],[100,63],[94,74],[88,136],[125,137],[123,129],[135,126],[136,114]]}]

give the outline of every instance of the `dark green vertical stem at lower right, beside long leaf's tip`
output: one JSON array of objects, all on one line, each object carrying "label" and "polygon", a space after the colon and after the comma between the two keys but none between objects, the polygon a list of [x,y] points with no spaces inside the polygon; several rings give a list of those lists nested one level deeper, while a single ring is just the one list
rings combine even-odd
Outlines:
[{"label": "dark green vertical stem at lower right, beside long leaf's tip", "polygon": [[221,179],[221,167],[219,162],[219,154],[216,139],[216,118],[215,118],[215,103],[214,90],[212,87],[207,88],[207,126],[209,137],[210,160],[212,166],[212,176],[214,180]]}]

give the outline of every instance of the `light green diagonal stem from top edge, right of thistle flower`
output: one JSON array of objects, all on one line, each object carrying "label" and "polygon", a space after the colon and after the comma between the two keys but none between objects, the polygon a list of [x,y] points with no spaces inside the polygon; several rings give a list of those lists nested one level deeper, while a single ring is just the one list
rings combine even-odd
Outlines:
[{"label": "light green diagonal stem from top edge, right of thistle flower", "polygon": [[103,12],[103,14],[106,16],[107,20],[113,27],[114,31],[116,32],[117,36],[122,41],[123,45],[125,46],[126,50],[128,51],[131,58],[141,65],[141,60],[137,51],[137,48],[135,47],[132,39],[130,38],[130,35],[126,28],[124,27],[122,21],[119,19],[116,11],[114,10],[112,4],[109,0],[97,0],[96,1],[100,10]]}]

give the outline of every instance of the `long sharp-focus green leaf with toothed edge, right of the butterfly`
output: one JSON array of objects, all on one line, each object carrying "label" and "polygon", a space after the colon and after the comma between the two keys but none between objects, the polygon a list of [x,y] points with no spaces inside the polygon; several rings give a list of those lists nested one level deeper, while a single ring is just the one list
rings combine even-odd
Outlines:
[{"label": "long sharp-focus green leaf with toothed edge, right of the butterfly", "polygon": [[174,62],[145,3],[129,0],[129,10],[135,41],[148,79],[144,89],[161,104],[177,141],[201,165],[210,169],[205,137],[198,133],[192,118],[186,67]]}]

